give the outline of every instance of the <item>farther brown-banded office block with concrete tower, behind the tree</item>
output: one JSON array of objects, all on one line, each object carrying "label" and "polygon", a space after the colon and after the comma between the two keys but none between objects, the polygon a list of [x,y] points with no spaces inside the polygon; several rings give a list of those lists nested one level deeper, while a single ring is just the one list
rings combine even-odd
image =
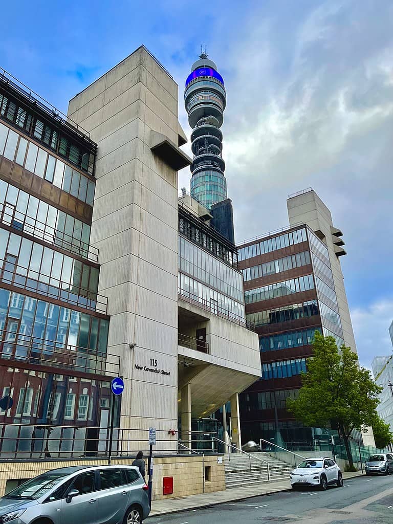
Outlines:
[{"label": "farther brown-banded office block with concrete tower, behind the tree", "polygon": [[315,331],[339,347],[356,346],[339,260],[342,233],[312,189],[291,195],[287,206],[288,227],[239,246],[246,318],[256,326],[262,364],[261,379],[240,405],[244,438],[304,446],[329,439],[286,410],[286,399],[298,395]]}]

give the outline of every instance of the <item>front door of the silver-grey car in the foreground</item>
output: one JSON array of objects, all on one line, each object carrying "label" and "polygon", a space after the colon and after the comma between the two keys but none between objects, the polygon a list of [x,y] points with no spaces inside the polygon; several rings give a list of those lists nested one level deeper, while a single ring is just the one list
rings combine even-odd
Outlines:
[{"label": "front door of the silver-grey car in the foreground", "polygon": [[61,524],[97,524],[98,504],[96,490],[96,475],[87,471],[75,477],[68,493],[78,490],[71,500],[67,497],[61,500]]}]

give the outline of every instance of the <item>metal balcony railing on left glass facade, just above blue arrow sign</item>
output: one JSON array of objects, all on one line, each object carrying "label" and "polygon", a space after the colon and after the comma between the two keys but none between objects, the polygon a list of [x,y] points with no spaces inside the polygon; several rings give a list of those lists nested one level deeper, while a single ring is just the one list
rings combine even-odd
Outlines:
[{"label": "metal balcony railing on left glass facade, just above blue arrow sign", "polygon": [[118,355],[14,331],[0,330],[0,358],[95,375],[117,376],[120,370]]}]

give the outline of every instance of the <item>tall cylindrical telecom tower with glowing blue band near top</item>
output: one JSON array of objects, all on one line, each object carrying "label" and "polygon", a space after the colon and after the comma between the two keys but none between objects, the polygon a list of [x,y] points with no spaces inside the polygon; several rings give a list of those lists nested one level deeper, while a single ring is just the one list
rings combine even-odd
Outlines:
[{"label": "tall cylindrical telecom tower with glowing blue band near top", "polygon": [[201,53],[185,81],[184,105],[192,129],[191,196],[206,208],[226,200],[222,132],[226,93],[216,64]]}]

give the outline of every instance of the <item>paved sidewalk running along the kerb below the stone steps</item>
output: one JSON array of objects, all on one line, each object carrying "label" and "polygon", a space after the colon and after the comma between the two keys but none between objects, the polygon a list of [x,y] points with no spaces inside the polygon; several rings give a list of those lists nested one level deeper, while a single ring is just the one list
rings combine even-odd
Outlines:
[{"label": "paved sidewalk running along the kerb below the stone steps", "polygon": [[[344,480],[346,478],[358,477],[362,475],[361,472],[343,473]],[[166,515],[168,513],[177,513],[179,511],[187,511],[189,509],[205,508],[215,506],[216,504],[223,504],[226,502],[233,502],[250,497],[257,497],[260,495],[268,495],[269,493],[277,493],[291,489],[289,480],[283,478],[279,482],[264,482],[263,484],[251,484],[241,488],[230,488],[225,491],[204,493],[202,495],[190,495],[189,497],[167,498],[165,500],[153,500],[151,503],[150,517],[157,515]]]}]

